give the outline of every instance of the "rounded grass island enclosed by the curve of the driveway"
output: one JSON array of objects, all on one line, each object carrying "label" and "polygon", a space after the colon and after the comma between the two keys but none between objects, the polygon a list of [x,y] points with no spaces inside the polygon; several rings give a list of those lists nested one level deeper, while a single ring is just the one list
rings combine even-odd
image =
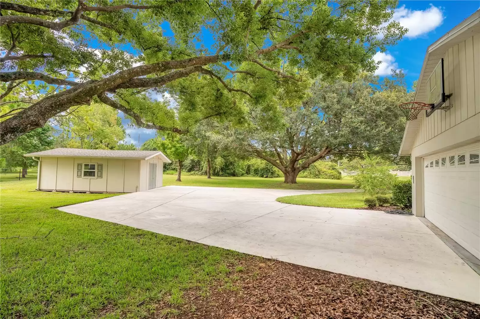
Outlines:
[{"label": "rounded grass island enclosed by the curve of the driveway", "polygon": [[363,208],[363,192],[334,193],[334,194],[308,194],[283,196],[276,199],[277,202],[294,205],[336,207],[336,208]]}]

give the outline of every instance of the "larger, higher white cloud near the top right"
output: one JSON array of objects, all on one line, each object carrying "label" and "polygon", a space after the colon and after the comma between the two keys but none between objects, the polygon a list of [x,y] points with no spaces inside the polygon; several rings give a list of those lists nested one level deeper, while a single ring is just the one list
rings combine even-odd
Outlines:
[{"label": "larger, higher white cloud near the top right", "polygon": [[406,37],[415,38],[429,33],[443,23],[444,12],[441,9],[430,4],[430,8],[425,10],[410,10],[403,5],[395,9],[392,20],[408,29]]}]

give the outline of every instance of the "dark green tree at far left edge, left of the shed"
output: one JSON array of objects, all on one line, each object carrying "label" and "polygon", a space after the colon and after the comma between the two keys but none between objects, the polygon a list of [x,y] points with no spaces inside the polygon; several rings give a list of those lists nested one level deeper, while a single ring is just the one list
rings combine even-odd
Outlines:
[{"label": "dark green tree at far left edge, left of the shed", "polygon": [[0,147],[1,157],[5,160],[6,168],[21,167],[22,177],[27,175],[27,169],[36,166],[37,161],[24,154],[39,152],[53,148],[52,127],[45,125],[30,131],[14,141]]}]

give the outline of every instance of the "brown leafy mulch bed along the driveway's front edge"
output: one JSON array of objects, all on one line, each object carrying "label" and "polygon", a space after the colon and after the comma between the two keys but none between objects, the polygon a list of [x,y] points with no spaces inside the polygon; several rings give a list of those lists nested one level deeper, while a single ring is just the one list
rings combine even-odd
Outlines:
[{"label": "brown leafy mulch bed along the driveway's front edge", "polygon": [[[262,258],[207,294],[189,291],[174,314],[157,305],[154,318],[346,319],[480,318],[480,305],[339,273]],[[235,267],[233,267],[235,268]],[[175,308],[175,307],[173,307]]]}]

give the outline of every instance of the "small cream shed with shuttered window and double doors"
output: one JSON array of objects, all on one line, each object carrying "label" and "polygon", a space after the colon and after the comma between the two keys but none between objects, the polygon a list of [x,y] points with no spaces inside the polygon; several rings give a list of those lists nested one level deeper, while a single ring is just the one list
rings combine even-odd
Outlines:
[{"label": "small cream shed with shuttered window and double doors", "polygon": [[55,148],[25,154],[38,161],[40,191],[133,193],[162,186],[159,151]]}]

